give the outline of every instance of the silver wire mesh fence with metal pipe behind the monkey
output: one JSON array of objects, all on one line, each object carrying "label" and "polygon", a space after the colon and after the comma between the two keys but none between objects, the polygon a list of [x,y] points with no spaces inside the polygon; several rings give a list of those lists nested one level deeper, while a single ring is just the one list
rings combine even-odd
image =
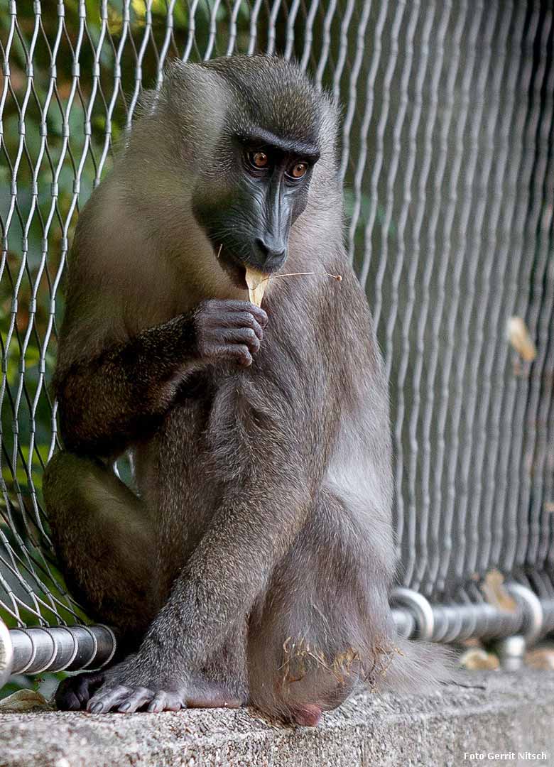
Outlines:
[{"label": "silver wire mesh fence with metal pipe behind the monkey", "polygon": [[[294,57],[343,105],[348,251],[391,381],[399,626],[442,640],[554,628],[552,13],[2,0],[0,616],[17,670],[83,667],[109,645],[101,627],[39,628],[87,624],[41,505],[58,444],[48,386],[78,211],[174,56]],[[483,591],[496,571],[515,584],[511,612]]]}]

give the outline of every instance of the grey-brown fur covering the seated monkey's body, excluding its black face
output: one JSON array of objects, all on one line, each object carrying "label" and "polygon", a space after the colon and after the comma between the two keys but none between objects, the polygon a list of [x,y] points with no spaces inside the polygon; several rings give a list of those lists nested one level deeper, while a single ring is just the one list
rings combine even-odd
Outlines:
[{"label": "grey-brown fur covering the seated monkey's body, excluding its black face", "polygon": [[[253,120],[321,153],[285,271],[342,281],[270,281],[244,367],[206,351],[209,312],[248,294],[191,200],[229,193],[225,136]],[[250,702],[312,724],[401,676],[387,386],[343,245],[336,135],[292,64],[173,64],[81,214],[55,376],[71,453],[45,496],[69,583],[137,651],[78,695],[63,686],[64,707]],[[137,498],[109,468],[126,449]]]}]

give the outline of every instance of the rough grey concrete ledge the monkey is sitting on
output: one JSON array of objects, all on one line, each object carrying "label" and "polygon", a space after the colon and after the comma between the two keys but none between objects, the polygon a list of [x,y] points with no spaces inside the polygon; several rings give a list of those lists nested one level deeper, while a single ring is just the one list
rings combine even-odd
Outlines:
[{"label": "rough grey concrete ledge the monkey is sitting on", "polygon": [[470,680],[486,690],[368,693],[315,729],[275,726],[252,709],[3,713],[0,767],[554,765],[554,673],[474,673]]}]

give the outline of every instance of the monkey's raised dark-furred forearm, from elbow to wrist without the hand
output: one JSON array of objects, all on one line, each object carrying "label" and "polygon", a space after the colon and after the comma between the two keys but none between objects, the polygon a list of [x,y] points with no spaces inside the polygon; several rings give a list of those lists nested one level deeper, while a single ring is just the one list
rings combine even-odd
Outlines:
[{"label": "monkey's raised dark-furred forearm, from elbow to wrist without the hand", "polygon": [[191,314],[58,373],[55,390],[66,448],[96,456],[123,452],[156,426],[197,363]]}]

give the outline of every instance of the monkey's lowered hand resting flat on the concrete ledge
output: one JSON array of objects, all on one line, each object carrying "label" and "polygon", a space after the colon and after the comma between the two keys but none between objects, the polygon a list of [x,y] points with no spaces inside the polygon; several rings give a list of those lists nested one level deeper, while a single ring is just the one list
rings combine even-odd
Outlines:
[{"label": "monkey's lowered hand resting flat on the concrete ledge", "polygon": [[104,680],[88,700],[91,713],[151,713],[186,708],[238,708],[244,703],[223,686],[202,674],[183,674],[147,668],[137,656],[130,656],[104,673]]}]

